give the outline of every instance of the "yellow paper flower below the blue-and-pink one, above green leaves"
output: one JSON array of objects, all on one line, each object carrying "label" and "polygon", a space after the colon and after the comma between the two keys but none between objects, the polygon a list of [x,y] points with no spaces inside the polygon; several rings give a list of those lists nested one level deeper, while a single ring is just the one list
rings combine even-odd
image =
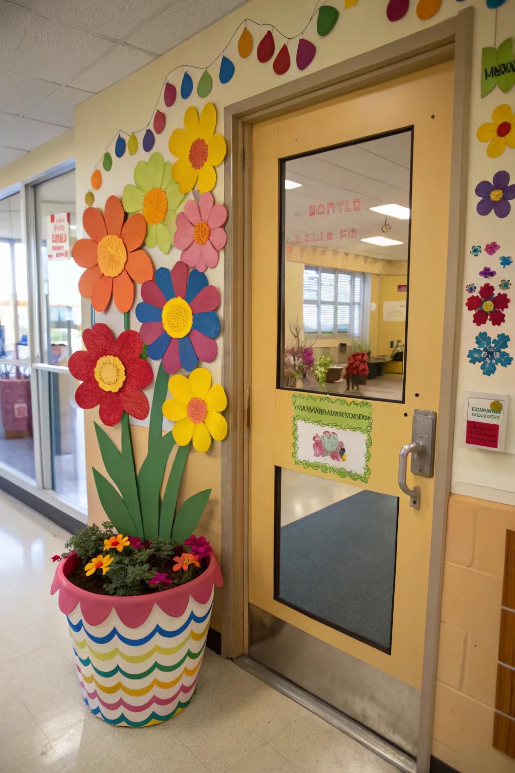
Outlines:
[{"label": "yellow paper flower below the blue-and-pink one, above green leaves", "polygon": [[163,414],[174,421],[172,434],[178,445],[193,439],[196,451],[208,451],[211,438],[222,441],[227,434],[227,421],[221,411],[227,407],[223,386],[211,386],[211,373],[195,368],[186,376],[176,373],[168,381],[172,399],[165,400]]}]

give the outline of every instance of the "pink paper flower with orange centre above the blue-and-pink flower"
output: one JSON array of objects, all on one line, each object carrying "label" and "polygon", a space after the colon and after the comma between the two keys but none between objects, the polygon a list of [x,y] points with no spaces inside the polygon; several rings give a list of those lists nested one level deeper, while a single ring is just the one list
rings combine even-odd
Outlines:
[{"label": "pink paper flower with orange centre above the blue-and-pink flower", "polygon": [[202,193],[198,205],[193,199],[187,201],[175,220],[174,245],[182,250],[181,261],[197,271],[214,268],[227,241],[222,227],[226,220],[227,208],[215,204],[212,193]]}]

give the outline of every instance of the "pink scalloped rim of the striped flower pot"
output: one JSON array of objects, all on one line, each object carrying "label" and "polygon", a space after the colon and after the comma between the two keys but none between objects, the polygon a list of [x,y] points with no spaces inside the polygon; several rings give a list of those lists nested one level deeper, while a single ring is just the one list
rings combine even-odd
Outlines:
[{"label": "pink scalloped rim of the striped flower pot", "polygon": [[114,608],[124,625],[128,628],[138,628],[147,620],[154,604],[166,615],[180,618],[185,613],[190,596],[198,604],[205,604],[211,598],[213,585],[218,587],[223,585],[222,571],[213,553],[209,556],[208,567],[199,577],[195,577],[195,580],[173,587],[169,591],[144,596],[104,596],[83,591],[68,580],[68,575],[79,563],[79,557],[75,553],[70,553],[65,559],[59,561],[50,594],[59,590],[59,609],[65,615],[69,615],[76,605],[80,604],[82,617],[90,625],[103,623]]}]

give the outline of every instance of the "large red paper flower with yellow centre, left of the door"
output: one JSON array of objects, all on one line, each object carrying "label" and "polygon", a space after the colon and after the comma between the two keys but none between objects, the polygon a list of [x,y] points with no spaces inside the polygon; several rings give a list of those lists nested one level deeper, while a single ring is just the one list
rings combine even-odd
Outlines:
[{"label": "large red paper flower with yellow centre, left of the door", "polygon": [[74,352],[69,372],[83,383],[75,399],[81,408],[100,404],[100,421],[117,424],[124,411],[135,419],[148,414],[148,400],[141,392],[152,380],[152,369],[141,359],[143,344],[135,330],[125,330],[115,340],[113,333],[97,322],[83,332],[86,352]]}]

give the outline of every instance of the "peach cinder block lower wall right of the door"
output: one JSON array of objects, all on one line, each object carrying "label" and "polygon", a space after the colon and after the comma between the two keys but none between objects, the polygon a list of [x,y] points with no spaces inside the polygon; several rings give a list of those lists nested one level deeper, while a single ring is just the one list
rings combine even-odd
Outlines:
[{"label": "peach cinder block lower wall right of the door", "polygon": [[450,496],[433,754],[461,773],[515,771],[492,745],[507,529],[515,507]]}]

